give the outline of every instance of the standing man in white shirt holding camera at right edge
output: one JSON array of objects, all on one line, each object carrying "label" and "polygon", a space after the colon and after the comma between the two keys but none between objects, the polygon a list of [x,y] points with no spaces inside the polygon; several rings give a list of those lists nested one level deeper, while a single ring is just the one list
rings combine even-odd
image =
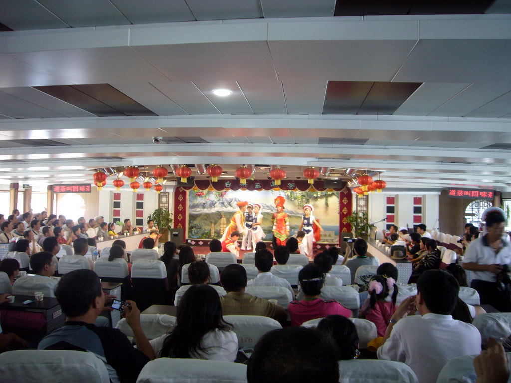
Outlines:
[{"label": "standing man in white shirt holding camera at right edge", "polygon": [[461,267],[473,272],[470,287],[477,290],[481,304],[489,304],[500,312],[511,312],[511,246],[502,239],[505,219],[499,208],[483,213],[487,234],[470,243]]}]

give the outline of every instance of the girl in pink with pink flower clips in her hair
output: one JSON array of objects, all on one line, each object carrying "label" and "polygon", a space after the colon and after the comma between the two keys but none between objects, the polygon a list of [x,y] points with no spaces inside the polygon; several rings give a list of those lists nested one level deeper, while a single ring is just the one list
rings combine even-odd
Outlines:
[{"label": "girl in pink with pink flower clips in her hair", "polygon": [[[369,281],[369,298],[362,305],[362,316],[376,325],[378,337],[383,337],[392,314],[396,311],[398,286],[396,280],[375,275]],[[389,297],[390,295],[390,297]]]}]

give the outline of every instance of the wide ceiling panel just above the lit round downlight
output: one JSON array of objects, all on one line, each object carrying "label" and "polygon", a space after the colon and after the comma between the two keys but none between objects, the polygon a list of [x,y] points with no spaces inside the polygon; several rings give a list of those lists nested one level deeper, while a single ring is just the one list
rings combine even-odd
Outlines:
[{"label": "wide ceiling panel just above the lit round downlight", "polygon": [[276,78],[266,41],[135,46],[133,49],[172,81]]}]

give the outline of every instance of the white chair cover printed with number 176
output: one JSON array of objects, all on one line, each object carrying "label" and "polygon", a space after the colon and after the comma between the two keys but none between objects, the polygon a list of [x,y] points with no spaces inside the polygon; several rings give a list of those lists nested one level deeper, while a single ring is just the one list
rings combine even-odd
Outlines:
[{"label": "white chair cover printed with number 176", "polygon": [[259,315],[224,315],[223,319],[233,325],[240,349],[253,348],[265,333],[282,328],[276,320]]}]

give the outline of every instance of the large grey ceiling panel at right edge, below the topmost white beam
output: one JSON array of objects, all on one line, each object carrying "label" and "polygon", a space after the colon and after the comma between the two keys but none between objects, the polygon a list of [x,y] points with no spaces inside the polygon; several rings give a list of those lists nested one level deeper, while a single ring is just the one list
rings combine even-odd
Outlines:
[{"label": "large grey ceiling panel at right edge, below the topmost white beam", "polygon": [[420,40],[393,81],[511,81],[509,40]]}]

